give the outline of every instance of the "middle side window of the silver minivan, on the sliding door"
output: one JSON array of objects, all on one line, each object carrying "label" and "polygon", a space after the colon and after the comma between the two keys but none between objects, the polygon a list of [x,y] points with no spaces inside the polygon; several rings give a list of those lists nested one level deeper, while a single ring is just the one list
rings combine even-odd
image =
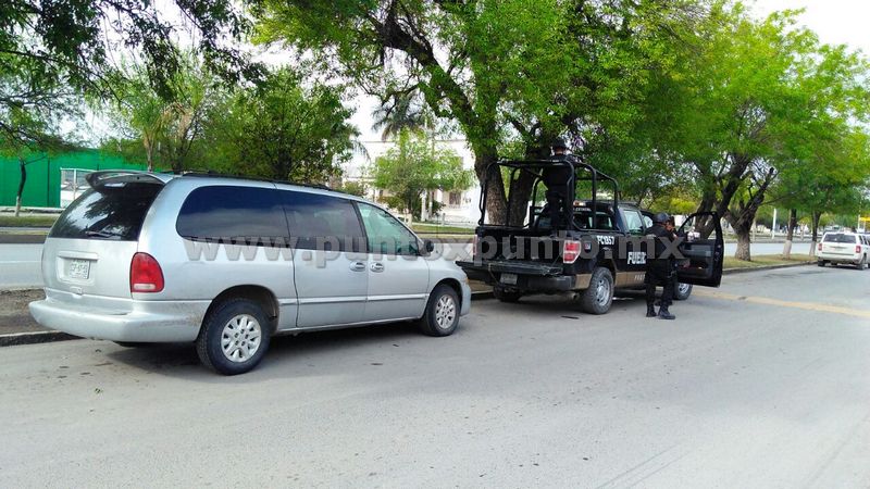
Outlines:
[{"label": "middle side window of the silver minivan, on the sliding door", "polygon": [[357,210],[349,200],[291,190],[282,190],[281,195],[296,248],[353,252],[364,250],[365,235],[362,233]]}]

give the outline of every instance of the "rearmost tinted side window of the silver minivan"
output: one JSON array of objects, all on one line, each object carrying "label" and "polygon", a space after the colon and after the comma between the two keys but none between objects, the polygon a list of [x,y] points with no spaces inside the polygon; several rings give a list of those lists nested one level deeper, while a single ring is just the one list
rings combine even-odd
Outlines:
[{"label": "rearmost tinted side window of the silver minivan", "polygon": [[195,241],[286,246],[289,240],[277,190],[260,187],[199,187],[182,204],[175,229]]}]

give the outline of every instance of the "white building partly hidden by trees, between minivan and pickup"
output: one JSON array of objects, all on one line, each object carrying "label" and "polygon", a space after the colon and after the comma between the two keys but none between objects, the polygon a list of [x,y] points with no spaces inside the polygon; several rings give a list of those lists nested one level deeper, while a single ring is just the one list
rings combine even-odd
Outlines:
[{"label": "white building partly hidden by trees, between minivan and pickup", "polygon": [[[374,161],[396,146],[395,141],[382,141],[380,139],[360,141],[368,154],[356,153],[353,158],[344,165],[345,180],[362,181],[368,188],[366,198],[377,200],[383,197],[384,191],[372,186],[372,178],[369,168]],[[469,148],[464,139],[438,139],[436,145],[452,149],[462,159],[462,167],[474,170],[474,153]],[[442,191],[436,190],[434,198],[443,204],[439,215],[428,217],[428,221],[438,221],[445,224],[476,224],[481,218],[477,209],[481,199],[481,187],[477,185],[476,177],[474,186],[464,191]]]}]

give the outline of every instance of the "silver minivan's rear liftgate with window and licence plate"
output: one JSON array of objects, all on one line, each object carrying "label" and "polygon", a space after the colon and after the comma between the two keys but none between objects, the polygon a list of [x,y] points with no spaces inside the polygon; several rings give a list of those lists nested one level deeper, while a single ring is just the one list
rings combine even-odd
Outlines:
[{"label": "silver minivan's rear liftgate with window and licence plate", "polygon": [[119,271],[129,269],[142,222],[164,180],[96,172],[88,184],[91,188],[63,211],[44,244],[47,292],[128,299],[129,274]]}]

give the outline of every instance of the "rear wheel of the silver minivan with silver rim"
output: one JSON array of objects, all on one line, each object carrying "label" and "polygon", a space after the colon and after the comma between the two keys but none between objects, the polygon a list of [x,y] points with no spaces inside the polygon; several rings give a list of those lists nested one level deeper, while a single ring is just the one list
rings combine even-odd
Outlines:
[{"label": "rear wheel of the silver minivan with silver rim", "polygon": [[231,299],[206,316],[196,341],[197,354],[219,374],[244,374],[263,360],[269,341],[269,318],[260,304]]}]

